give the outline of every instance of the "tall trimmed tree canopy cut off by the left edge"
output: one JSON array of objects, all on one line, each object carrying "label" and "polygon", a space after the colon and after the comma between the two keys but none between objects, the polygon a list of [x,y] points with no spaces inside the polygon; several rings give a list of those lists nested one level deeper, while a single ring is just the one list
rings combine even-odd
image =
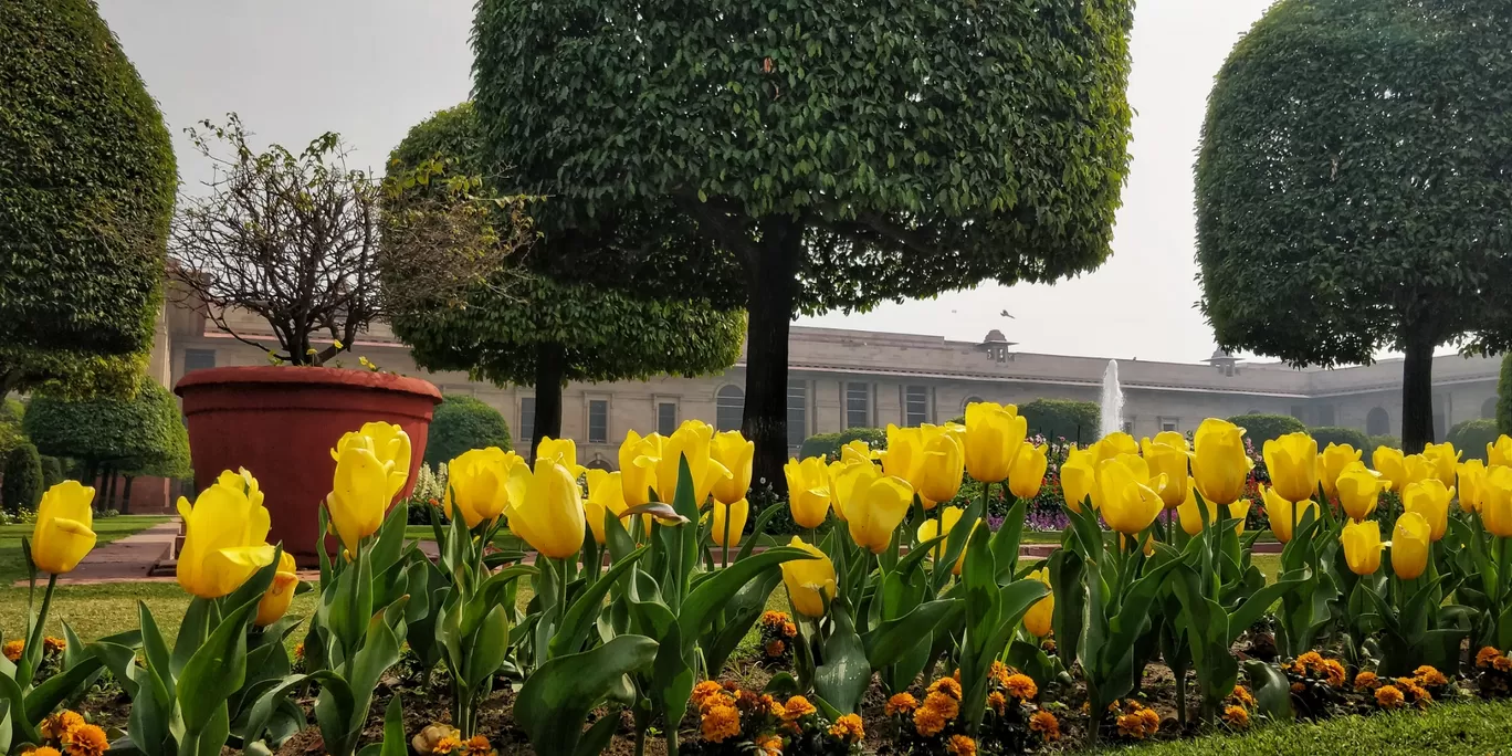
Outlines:
[{"label": "tall trimmed tree canopy cut off by the left edge", "polygon": [[91,0],[0,3],[0,395],[130,392],[153,345],[177,168]]}]

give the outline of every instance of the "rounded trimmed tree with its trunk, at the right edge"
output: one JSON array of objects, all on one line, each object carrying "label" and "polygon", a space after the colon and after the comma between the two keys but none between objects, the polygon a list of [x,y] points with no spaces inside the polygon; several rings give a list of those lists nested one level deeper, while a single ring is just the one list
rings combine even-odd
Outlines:
[{"label": "rounded trimmed tree with its trunk, at the right edge", "polygon": [[1433,440],[1433,349],[1504,351],[1512,5],[1282,0],[1234,47],[1196,166],[1202,308],[1291,364],[1405,352],[1402,442]]}]

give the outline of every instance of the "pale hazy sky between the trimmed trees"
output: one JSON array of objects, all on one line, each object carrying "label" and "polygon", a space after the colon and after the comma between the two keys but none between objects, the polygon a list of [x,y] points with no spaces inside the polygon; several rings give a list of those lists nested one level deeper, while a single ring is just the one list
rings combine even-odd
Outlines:
[{"label": "pale hazy sky between the trimmed trees", "polygon": [[[1134,162],[1101,269],[800,322],[962,340],[1001,328],[1033,352],[1208,357],[1213,333],[1194,307],[1191,163],[1213,76],[1270,3],[1137,3]],[[183,136],[200,119],[236,110],[259,138],[289,147],[340,132],[358,163],[381,169],[410,125],[472,88],[472,0],[100,0],[100,9],[162,104],[191,183],[209,177]]]}]

